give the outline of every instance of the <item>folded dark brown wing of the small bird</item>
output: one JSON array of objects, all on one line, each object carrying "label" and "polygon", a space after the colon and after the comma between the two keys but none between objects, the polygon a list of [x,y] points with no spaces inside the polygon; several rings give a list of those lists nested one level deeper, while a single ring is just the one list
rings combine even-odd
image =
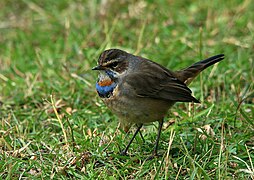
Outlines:
[{"label": "folded dark brown wing of the small bird", "polygon": [[147,60],[142,62],[141,67],[141,71],[128,74],[123,81],[138,97],[175,102],[199,102],[173,72]]}]

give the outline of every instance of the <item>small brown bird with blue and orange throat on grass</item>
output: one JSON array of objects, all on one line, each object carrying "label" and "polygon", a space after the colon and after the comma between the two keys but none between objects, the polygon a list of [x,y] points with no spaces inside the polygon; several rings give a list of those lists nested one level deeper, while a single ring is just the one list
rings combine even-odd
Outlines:
[{"label": "small brown bird with blue and orange throat on grass", "polygon": [[106,106],[118,116],[127,132],[137,125],[128,148],[144,124],[159,122],[153,156],[157,155],[163,118],[176,102],[199,101],[191,95],[187,85],[204,69],[224,59],[219,54],[199,61],[179,71],[170,71],[149,59],[129,54],[120,49],[109,49],[100,55],[100,71],[96,90]]}]

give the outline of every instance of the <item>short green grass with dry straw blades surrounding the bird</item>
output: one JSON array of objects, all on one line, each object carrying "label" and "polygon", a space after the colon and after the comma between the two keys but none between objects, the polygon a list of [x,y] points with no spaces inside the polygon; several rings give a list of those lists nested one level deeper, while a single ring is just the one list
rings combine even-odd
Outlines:
[{"label": "short green grass with dry straw blades surrounding the bird", "polygon": [[[254,3],[245,1],[0,2],[2,179],[254,179]],[[95,91],[98,55],[118,47],[172,70],[226,59],[178,103],[130,136]],[[168,126],[171,124],[171,126]]]}]

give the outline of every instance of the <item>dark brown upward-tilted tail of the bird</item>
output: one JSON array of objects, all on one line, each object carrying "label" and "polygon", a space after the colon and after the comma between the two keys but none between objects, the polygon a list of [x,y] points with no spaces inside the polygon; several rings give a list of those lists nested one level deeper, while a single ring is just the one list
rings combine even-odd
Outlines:
[{"label": "dark brown upward-tilted tail of the bird", "polygon": [[176,71],[176,75],[178,79],[185,84],[190,84],[191,81],[204,69],[208,68],[209,66],[221,61],[224,59],[224,54],[219,54],[216,56],[212,56],[208,59],[196,62],[191,66],[182,69],[180,71]]}]

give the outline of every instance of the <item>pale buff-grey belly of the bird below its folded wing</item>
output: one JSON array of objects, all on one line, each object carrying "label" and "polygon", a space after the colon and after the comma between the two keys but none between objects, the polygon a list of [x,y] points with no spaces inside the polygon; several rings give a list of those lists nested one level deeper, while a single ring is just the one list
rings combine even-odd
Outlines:
[{"label": "pale buff-grey belly of the bird below its folded wing", "polygon": [[174,104],[158,99],[134,97],[128,94],[119,95],[118,87],[113,96],[103,99],[108,108],[115,113],[123,124],[146,124],[159,121]]}]

